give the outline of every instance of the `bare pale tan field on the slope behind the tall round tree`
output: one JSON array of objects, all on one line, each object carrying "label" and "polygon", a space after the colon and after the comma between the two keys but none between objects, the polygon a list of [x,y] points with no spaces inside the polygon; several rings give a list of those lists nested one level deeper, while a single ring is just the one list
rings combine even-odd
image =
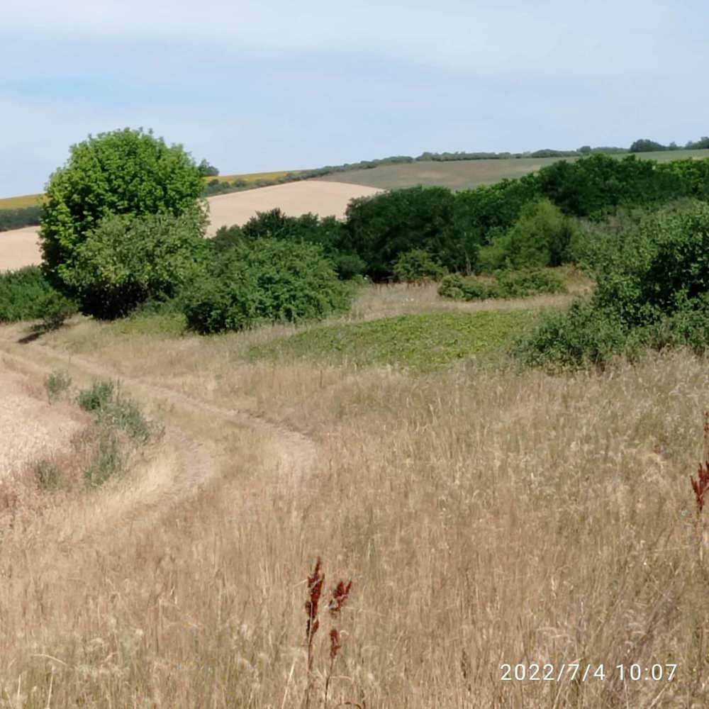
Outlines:
[{"label": "bare pale tan field on the slope behind the tall round tree", "polygon": [[[243,224],[257,212],[281,208],[289,216],[312,212],[341,218],[350,199],[381,190],[339,182],[291,182],[208,198],[210,224],[207,235],[221,226]],[[37,227],[0,232],[0,271],[11,271],[42,261]]]}]

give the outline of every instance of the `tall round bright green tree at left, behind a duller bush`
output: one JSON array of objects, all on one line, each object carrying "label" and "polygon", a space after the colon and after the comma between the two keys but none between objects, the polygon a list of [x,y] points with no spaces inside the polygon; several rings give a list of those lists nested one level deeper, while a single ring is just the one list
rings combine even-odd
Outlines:
[{"label": "tall round bright green tree at left, behind a duller bush", "polygon": [[82,296],[85,264],[77,258],[104,220],[189,214],[204,223],[202,188],[199,167],[180,145],[168,147],[152,133],[128,128],[89,136],[50,177],[40,230],[45,273],[66,295]]}]

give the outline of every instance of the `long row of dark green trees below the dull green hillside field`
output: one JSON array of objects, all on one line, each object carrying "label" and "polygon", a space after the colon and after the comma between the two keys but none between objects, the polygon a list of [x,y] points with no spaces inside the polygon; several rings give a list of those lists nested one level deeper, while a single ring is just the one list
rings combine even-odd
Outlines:
[{"label": "long row of dark green trees below the dull green hillside field", "polygon": [[215,244],[257,238],[313,243],[341,278],[376,281],[396,278],[400,259],[413,250],[450,272],[556,266],[574,258],[574,218],[600,219],[618,208],[683,198],[709,201],[709,160],[659,164],[596,154],[476,189],[418,186],[353,199],[342,222],[259,213],[242,227],[220,229]]}]

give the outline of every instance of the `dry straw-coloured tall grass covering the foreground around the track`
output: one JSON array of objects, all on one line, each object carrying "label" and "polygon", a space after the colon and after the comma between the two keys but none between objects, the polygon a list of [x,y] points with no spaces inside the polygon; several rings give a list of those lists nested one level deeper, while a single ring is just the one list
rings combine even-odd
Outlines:
[{"label": "dry straw-coloured tall grass covering the foreground around the track", "polygon": [[[372,288],[352,318],[441,307],[430,288]],[[164,426],[120,479],[43,493],[1,530],[0,706],[708,705],[689,483],[705,363],[549,376],[503,355],[418,373],[249,356],[292,332],[79,318],[22,344],[26,325],[0,328],[2,372],[119,378]],[[336,620],[323,608],[308,674],[316,557],[321,606],[353,586]],[[506,663],[553,680],[503,681]],[[644,679],[653,666],[664,679]]]}]

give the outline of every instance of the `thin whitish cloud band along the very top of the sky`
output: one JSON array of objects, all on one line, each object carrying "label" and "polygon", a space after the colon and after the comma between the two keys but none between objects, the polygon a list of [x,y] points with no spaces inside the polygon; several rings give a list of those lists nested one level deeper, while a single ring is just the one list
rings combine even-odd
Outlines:
[{"label": "thin whitish cloud band along the very top of the sky", "polygon": [[13,0],[3,11],[9,33],[379,52],[451,70],[561,76],[694,66],[705,50],[677,41],[682,21],[676,2],[652,0]]}]

